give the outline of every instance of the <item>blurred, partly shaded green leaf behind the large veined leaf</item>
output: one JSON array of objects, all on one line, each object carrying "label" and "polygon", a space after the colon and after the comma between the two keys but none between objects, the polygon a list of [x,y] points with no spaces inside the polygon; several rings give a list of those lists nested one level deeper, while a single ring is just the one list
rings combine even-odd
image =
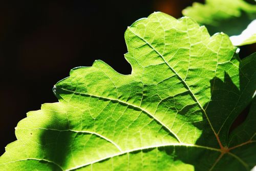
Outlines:
[{"label": "blurred, partly shaded green leaf behind the large veined leaf", "polygon": [[[251,29],[246,29],[256,18],[256,5],[243,0],[206,0],[205,4],[193,3],[182,13],[205,25],[210,34],[224,32],[229,36],[237,36],[231,38],[234,46],[256,42],[255,24]],[[243,32],[245,29],[247,31]]]}]

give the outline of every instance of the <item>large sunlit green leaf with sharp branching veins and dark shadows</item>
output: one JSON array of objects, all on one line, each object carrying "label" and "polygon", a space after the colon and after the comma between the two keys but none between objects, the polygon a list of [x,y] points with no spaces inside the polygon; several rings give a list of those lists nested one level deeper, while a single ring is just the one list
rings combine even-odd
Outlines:
[{"label": "large sunlit green leaf with sharp branching veins and dark shadows", "polygon": [[[153,13],[125,32],[132,74],[103,61],[56,83],[29,112],[0,170],[249,170],[255,164],[256,54],[189,17]],[[113,42],[114,43],[114,42]],[[250,108],[235,130],[230,126]],[[229,134],[230,132],[230,134]]]}]

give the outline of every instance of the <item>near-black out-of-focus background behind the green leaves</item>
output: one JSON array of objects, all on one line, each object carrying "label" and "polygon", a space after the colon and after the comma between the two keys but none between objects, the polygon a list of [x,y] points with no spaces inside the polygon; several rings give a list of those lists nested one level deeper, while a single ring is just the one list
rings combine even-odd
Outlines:
[{"label": "near-black out-of-focus background behind the green leaves", "polygon": [[[101,59],[116,71],[130,74],[123,57],[127,26],[154,11],[181,17],[181,10],[193,2],[1,1],[0,156],[16,140],[14,127],[28,111],[57,101],[52,88],[72,68]],[[245,46],[241,56],[255,51],[255,44]]]}]

